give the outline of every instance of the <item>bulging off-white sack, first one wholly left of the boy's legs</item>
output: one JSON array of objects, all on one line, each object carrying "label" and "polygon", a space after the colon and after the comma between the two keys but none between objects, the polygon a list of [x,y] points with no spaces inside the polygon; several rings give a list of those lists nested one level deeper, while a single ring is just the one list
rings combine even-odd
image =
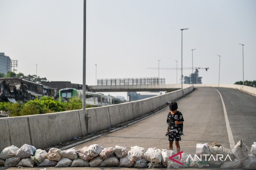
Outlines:
[{"label": "bulging off-white sack, first one wholly left of the boy's legs", "polygon": [[161,163],[162,155],[161,150],[156,148],[148,148],[148,150],[142,155],[142,158],[148,162]]}]

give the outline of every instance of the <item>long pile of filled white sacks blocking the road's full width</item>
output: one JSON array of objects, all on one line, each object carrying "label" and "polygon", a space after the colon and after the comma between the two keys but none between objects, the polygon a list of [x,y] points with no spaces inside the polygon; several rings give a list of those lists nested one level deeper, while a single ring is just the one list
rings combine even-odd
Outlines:
[{"label": "long pile of filled white sacks blocking the road's full width", "polygon": [[[173,150],[148,148],[139,146],[130,147],[115,146],[104,148],[94,144],[77,150],[75,147],[60,150],[51,148],[48,153],[45,150],[36,149],[31,145],[6,147],[0,153],[0,164],[5,167],[135,167],[135,168],[204,168],[220,167],[224,169],[243,168],[256,169],[256,142],[251,147],[251,155],[248,155],[247,146],[240,140],[234,148],[227,149],[219,143],[197,143],[195,155],[186,153],[175,155]],[[202,156],[202,155],[207,155]],[[217,156],[222,155],[218,159]],[[227,158],[225,161],[224,159]],[[178,163],[179,162],[179,163]]]}]

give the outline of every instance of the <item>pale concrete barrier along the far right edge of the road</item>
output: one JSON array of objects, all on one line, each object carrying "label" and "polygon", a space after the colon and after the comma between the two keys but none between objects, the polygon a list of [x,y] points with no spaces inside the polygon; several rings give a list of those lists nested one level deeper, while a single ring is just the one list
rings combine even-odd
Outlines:
[{"label": "pale concrete barrier along the far right edge of the road", "polygon": [[223,87],[223,88],[232,88],[256,95],[256,88],[250,86],[243,86],[239,84],[194,84],[194,87]]}]

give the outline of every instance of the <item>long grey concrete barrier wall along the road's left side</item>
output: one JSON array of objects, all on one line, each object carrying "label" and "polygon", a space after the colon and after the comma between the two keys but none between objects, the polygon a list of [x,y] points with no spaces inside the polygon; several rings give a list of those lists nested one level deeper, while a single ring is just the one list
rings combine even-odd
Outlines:
[{"label": "long grey concrete barrier wall along the road's left side", "polygon": [[1,118],[0,151],[27,143],[45,148],[140,117],[193,90],[193,86],[134,102],[31,116]]}]

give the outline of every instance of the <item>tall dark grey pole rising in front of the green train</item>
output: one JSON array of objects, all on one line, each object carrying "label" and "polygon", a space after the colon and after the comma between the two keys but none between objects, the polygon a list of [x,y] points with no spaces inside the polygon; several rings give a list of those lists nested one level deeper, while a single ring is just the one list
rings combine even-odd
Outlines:
[{"label": "tall dark grey pole rising in front of the green train", "polygon": [[85,111],[86,92],[86,0],[83,0],[83,110]]}]

